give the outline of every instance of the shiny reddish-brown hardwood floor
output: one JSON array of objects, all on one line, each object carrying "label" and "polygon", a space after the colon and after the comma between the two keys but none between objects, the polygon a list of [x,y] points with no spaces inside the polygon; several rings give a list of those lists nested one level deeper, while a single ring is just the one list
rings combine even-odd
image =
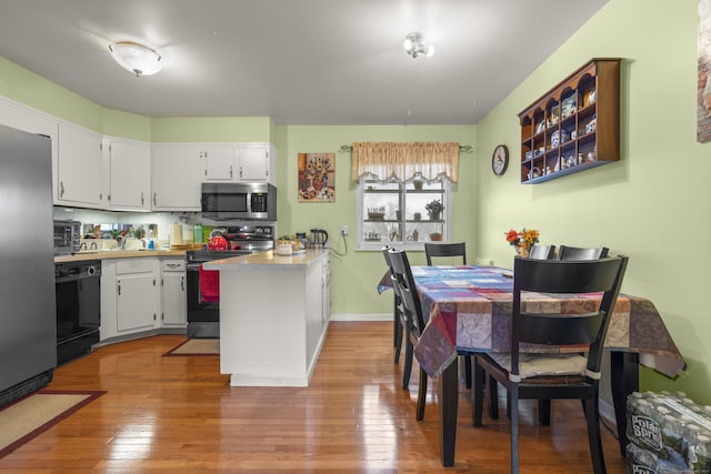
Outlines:
[{"label": "shiny reddish-brown hardwood floor", "polygon": [[[113,344],[58,369],[50,390],[108,393],[0,460],[0,472],[509,472],[508,420],[484,415],[474,428],[463,385],[457,464],[442,467],[435,384],[418,423],[417,366],[402,391],[392,323],[332,322],[308,389],[231,387],[217,356],[162,356],[183,339]],[[522,406],[522,473],[592,471],[579,402],[554,402],[550,427]],[[604,427],[602,437],[608,473],[623,473],[617,441]]]}]

